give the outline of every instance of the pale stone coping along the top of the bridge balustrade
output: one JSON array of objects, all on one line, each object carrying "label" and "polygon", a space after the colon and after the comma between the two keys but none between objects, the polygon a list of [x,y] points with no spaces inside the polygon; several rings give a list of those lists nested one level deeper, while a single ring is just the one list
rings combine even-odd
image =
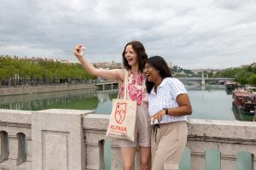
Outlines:
[{"label": "pale stone coping along the top of the bridge balustrade", "polygon": [[[109,115],[95,114],[95,111],[49,109],[44,111],[17,111],[0,109],[0,122],[31,125],[32,113],[81,114],[84,129],[106,131]],[[61,122],[60,122],[61,123]],[[223,139],[245,139],[256,142],[256,123],[222,120],[190,119],[189,137],[212,137]]]}]

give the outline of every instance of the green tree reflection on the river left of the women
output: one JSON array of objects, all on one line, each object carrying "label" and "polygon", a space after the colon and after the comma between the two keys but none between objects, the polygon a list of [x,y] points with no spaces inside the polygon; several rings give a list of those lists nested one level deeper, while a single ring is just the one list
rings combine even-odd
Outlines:
[{"label": "green tree reflection on the river left of the women", "polygon": [[117,90],[73,90],[0,97],[1,109],[40,111],[46,109],[96,110],[99,103],[117,96]]}]

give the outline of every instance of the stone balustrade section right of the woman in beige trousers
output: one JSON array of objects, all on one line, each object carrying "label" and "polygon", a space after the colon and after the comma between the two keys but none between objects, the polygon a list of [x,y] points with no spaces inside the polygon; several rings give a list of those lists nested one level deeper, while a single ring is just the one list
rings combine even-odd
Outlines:
[{"label": "stone balustrade section right of the woman in beige trousers", "polygon": [[205,150],[221,152],[221,169],[236,169],[236,157],[241,151],[254,155],[256,169],[256,123],[218,120],[196,120],[188,123],[187,146],[191,150],[191,169],[205,169]]}]

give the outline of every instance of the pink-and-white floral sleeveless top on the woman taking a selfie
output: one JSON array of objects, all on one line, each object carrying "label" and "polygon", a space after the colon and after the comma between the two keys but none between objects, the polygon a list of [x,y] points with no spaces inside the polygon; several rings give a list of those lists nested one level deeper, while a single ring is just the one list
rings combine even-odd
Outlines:
[{"label": "pink-and-white floral sleeveless top on the woman taking a selfie", "polygon": [[[143,73],[134,73],[128,71],[128,88],[127,92],[132,101],[137,101],[137,105],[148,104],[148,93],[145,86],[145,77]],[[119,96],[123,99],[125,95],[125,83],[120,85]]]}]

